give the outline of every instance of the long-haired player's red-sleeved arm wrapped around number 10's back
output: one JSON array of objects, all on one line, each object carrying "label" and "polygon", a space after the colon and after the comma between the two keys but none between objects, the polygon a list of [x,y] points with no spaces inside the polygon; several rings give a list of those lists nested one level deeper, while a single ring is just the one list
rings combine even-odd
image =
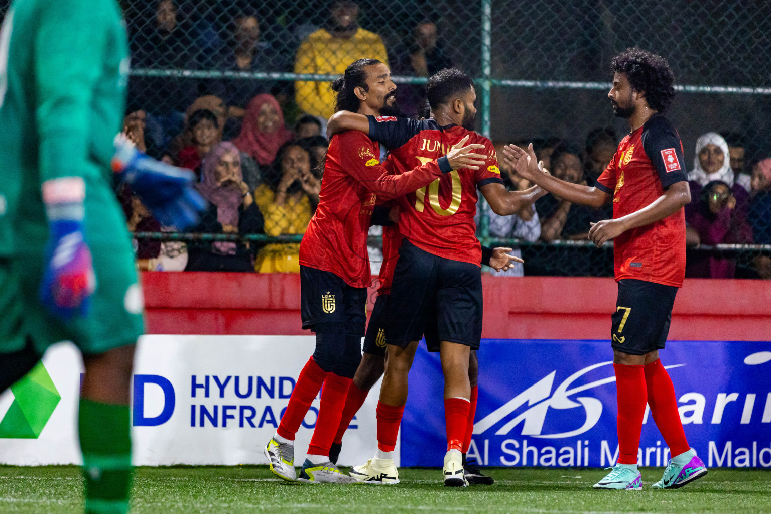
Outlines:
[{"label": "long-haired player's red-sleeved arm wrapped around number 10's back", "polygon": [[[485,158],[482,154],[475,153],[476,149],[484,148],[483,145],[463,146],[468,140],[466,136],[456,143],[446,156],[417,166],[401,175],[390,175],[372,152],[371,143],[363,133],[350,131],[338,137],[341,138],[340,146],[348,149],[341,152],[343,168],[363,186],[384,200],[412,193],[433,182],[443,173],[449,173],[452,170],[460,168],[478,170],[479,166],[484,164]],[[357,152],[355,149],[360,150]]]}]

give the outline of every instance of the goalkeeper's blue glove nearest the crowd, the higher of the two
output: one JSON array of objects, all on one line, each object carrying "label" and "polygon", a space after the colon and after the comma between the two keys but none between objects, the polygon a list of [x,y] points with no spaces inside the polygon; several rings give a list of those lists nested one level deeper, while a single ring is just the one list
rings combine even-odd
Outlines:
[{"label": "goalkeeper's blue glove nearest the crowd, the higher of the two", "polygon": [[123,134],[114,143],[113,171],[162,225],[183,230],[198,223],[207,206],[195,189],[193,172],[147,156]]}]

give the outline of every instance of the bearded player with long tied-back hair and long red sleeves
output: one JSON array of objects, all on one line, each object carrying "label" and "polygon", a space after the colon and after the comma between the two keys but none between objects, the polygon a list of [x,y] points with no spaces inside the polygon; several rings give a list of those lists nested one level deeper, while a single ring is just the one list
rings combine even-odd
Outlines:
[{"label": "bearded player with long tied-back hair and long red sleeves", "polygon": [[[358,109],[379,116],[394,101],[387,66],[377,59],[359,59],[333,84],[338,109]],[[366,242],[377,197],[395,198],[431,183],[456,168],[473,170],[484,163],[474,153],[479,144],[463,147],[463,138],[446,155],[426,160],[414,170],[390,175],[380,163],[380,149],[355,130],[332,138],[325,161],[317,210],[300,245],[302,326],[316,334],[314,354],[301,371],[281,424],[264,452],[270,469],[281,479],[294,481],[294,440],[311,401],[324,385],[321,406],[308,458],[298,480],[350,483],[329,461],[348,394],[361,360],[365,299],[369,285]]]}]

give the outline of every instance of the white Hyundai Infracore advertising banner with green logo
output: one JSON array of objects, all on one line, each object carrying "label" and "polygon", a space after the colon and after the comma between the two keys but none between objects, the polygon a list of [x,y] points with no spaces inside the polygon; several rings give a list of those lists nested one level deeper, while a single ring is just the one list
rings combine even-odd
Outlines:
[{"label": "white Hyundai Infracore advertising banner with green logo", "polygon": [[[132,385],[133,463],[267,464],[262,448],[281,419],[314,341],[311,336],[143,336]],[[25,385],[14,386],[16,395],[13,390],[0,395],[3,464],[80,463],[79,352],[70,343],[59,343],[42,363]],[[380,382],[345,434],[341,465],[365,462],[375,452],[379,388]],[[30,401],[35,395],[41,399]],[[295,465],[305,458],[318,403],[317,397],[298,432]]]}]

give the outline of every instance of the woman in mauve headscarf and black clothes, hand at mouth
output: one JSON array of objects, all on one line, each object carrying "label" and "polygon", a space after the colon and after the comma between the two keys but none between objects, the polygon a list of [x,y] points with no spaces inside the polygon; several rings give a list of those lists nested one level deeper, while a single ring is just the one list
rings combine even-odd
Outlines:
[{"label": "woman in mauve headscarf and black clothes, hand at mouth", "polygon": [[[194,232],[263,233],[260,210],[241,174],[241,156],[233,143],[217,143],[204,159],[198,190],[210,203]],[[254,242],[191,244],[188,271],[252,271]]]}]

